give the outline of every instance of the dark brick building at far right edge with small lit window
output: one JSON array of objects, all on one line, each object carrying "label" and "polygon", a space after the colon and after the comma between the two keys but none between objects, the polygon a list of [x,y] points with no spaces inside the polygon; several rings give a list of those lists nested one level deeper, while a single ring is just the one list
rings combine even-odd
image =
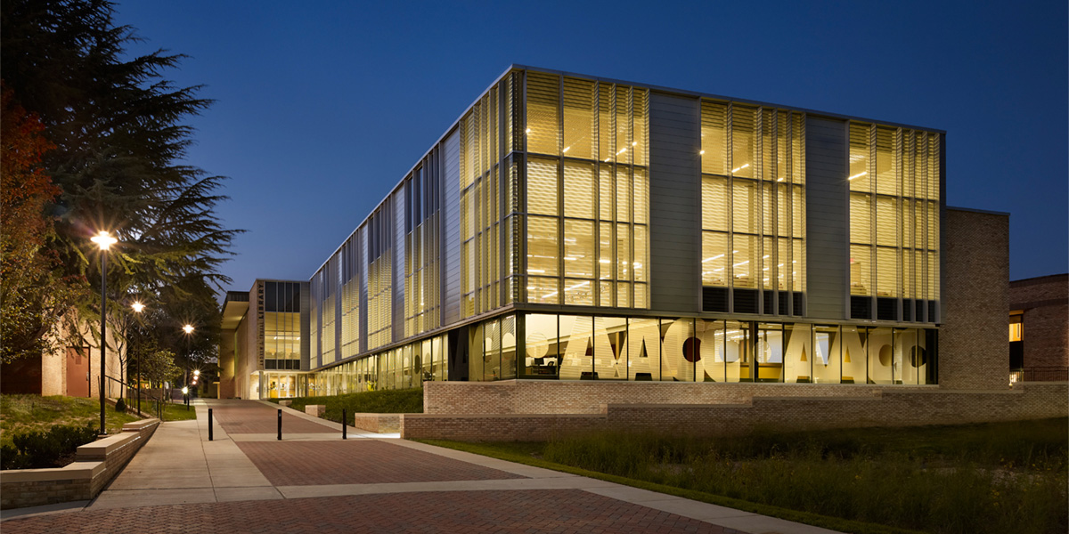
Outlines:
[{"label": "dark brick building at far right edge with small lit window", "polygon": [[1014,380],[1069,380],[1069,274],[1009,283],[1009,366]]}]

